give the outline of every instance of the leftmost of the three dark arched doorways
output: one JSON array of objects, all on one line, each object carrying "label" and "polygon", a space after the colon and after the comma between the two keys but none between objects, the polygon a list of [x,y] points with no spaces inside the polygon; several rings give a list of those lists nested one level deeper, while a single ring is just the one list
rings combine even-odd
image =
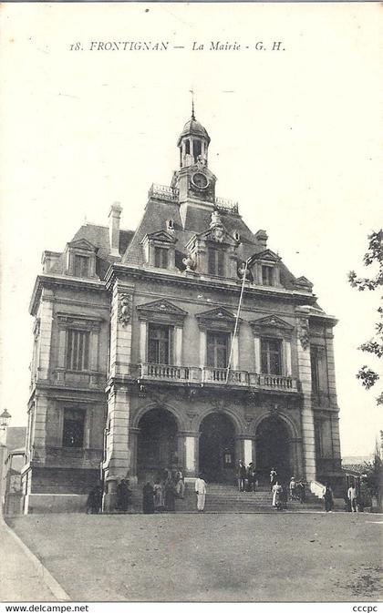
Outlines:
[{"label": "leftmost of the three dark arched doorways", "polygon": [[162,476],[165,468],[178,465],[177,422],[170,411],[150,409],[139,422],[137,476],[139,481]]}]

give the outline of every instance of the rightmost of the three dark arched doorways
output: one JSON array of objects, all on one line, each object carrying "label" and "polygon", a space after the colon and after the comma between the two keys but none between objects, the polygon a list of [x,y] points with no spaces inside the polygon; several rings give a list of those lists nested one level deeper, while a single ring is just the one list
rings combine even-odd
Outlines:
[{"label": "rightmost of the three dark arched doorways", "polygon": [[265,417],[256,429],[256,470],[261,483],[269,481],[274,467],[279,479],[286,482],[292,476],[289,433],[285,422],[277,416]]}]

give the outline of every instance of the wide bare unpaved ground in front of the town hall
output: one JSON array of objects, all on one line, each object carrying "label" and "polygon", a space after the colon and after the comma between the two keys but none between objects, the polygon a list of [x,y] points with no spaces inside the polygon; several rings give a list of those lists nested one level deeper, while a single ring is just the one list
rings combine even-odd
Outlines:
[{"label": "wide bare unpaved ground in front of the town hall", "polygon": [[74,600],[383,596],[379,515],[47,515],[9,524]]}]

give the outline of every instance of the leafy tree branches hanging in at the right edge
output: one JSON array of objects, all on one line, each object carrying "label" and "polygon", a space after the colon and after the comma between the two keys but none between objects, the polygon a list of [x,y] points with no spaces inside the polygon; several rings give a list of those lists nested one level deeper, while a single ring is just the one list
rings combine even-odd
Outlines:
[{"label": "leafy tree branches hanging in at the right edge", "polygon": [[[372,232],[368,236],[368,250],[363,258],[365,266],[373,266],[378,269],[375,276],[357,277],[355,271],[348,273],[348,281],[351,287],[357,288],[358,291],[374,291],[383,286],[383,230]],[[362,352],[372,353],[378,358],[383,356],[383,307],[378,307],[378,322],[375,324],[375,334],[367,342],[358,347]],[[364,364],[357,373],[357,379],[360,379],[362,385],[369,390],[379,379],[379,375],[375,370],[372,370]],[[377,404],[383,404],[383,391],[379,393]]]}]

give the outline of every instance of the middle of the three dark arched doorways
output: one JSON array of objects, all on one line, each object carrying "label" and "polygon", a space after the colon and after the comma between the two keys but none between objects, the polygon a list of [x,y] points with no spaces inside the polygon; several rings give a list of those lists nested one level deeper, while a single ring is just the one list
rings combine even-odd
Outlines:
[{"label": "middle of the three dark arched doorways", "polygon": [[207,415],[200,425],[200,472],[211,483],[235,478],[235,428],[226,414]]}]

